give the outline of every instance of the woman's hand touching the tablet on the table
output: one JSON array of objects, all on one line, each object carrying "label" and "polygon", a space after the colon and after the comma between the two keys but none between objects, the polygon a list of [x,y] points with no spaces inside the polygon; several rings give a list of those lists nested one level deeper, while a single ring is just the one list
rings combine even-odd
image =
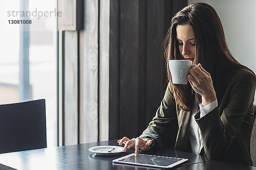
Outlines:
[{"label": "woman's hand touching the tablet on the table", "polygon": [[139,150],[149,150],[151,143],[153,142],[151,139],[140,137],[129,139],[127,137],[123,137],[122,139],[119,139],[117,141],[119,145],[122,145],[122,143],[125,144],[123,151],[125,152],[128,149],[135,149],[134,156],[138,156]]}]

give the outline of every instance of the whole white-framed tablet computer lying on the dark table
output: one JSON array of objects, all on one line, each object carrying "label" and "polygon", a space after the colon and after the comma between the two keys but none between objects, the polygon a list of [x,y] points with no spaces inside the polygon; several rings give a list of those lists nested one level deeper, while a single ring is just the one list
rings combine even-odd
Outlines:
[{"label": "whole white-framed tablet computer lying on the dark table", "polygon": [[181,164],[188,159],[183,158],[173,158],[166,156],[154,156],[154,155],[144,155],[139,154],[137,157],[134,156],[134,153],[130,155],[123,156],[118,159],[114,159],[115,163],[123,163],[123,164],[134,164],[148,167],[160,167],[160,168],[171,168],[175,167],[178,164]]}]

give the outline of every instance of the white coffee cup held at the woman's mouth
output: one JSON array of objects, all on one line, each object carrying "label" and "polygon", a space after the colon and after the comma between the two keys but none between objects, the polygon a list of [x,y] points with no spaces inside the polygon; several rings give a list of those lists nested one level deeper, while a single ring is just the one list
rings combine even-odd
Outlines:
[{"label": "white coffee cup held at the woman's mouth", "polygon": [[169,69],[172,76],[172,84],[186,85],[188,81],[187,76],[189,74],[189,69],[193,66],[197,65],[192,64],[192,61],[190,60],[170,59]]}]

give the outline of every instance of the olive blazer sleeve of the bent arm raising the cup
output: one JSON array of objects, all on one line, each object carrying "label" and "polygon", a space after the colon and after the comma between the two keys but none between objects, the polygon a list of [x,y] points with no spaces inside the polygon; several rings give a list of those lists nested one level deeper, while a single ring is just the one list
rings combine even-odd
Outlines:
[{"label": "olive blazer sleeve of the bent arm raising the cup", "polygon": [[201,130],[204,151],[209,159],[217,159],[227,153],[244,117],[253,105],[255,75],[247,72],[234,82],[229,91],[224,94],[228,102],[222,113],[216,107],[202,118],[200,118],[200,112],[195,115],[195,121]]}]

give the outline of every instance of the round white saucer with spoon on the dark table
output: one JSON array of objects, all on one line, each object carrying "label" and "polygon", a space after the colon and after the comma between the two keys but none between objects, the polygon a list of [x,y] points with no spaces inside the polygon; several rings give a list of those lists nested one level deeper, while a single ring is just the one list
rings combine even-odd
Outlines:
[{"label": "round white saucer with spoon on the dark table", "polygon": [[123,149],[124,148],[120,146],[105,145],[105,146],[90,147],[88,150],[90,152],[96,153],[97,155],[108,156],[108,155],[117,155],[123,152]]}]

